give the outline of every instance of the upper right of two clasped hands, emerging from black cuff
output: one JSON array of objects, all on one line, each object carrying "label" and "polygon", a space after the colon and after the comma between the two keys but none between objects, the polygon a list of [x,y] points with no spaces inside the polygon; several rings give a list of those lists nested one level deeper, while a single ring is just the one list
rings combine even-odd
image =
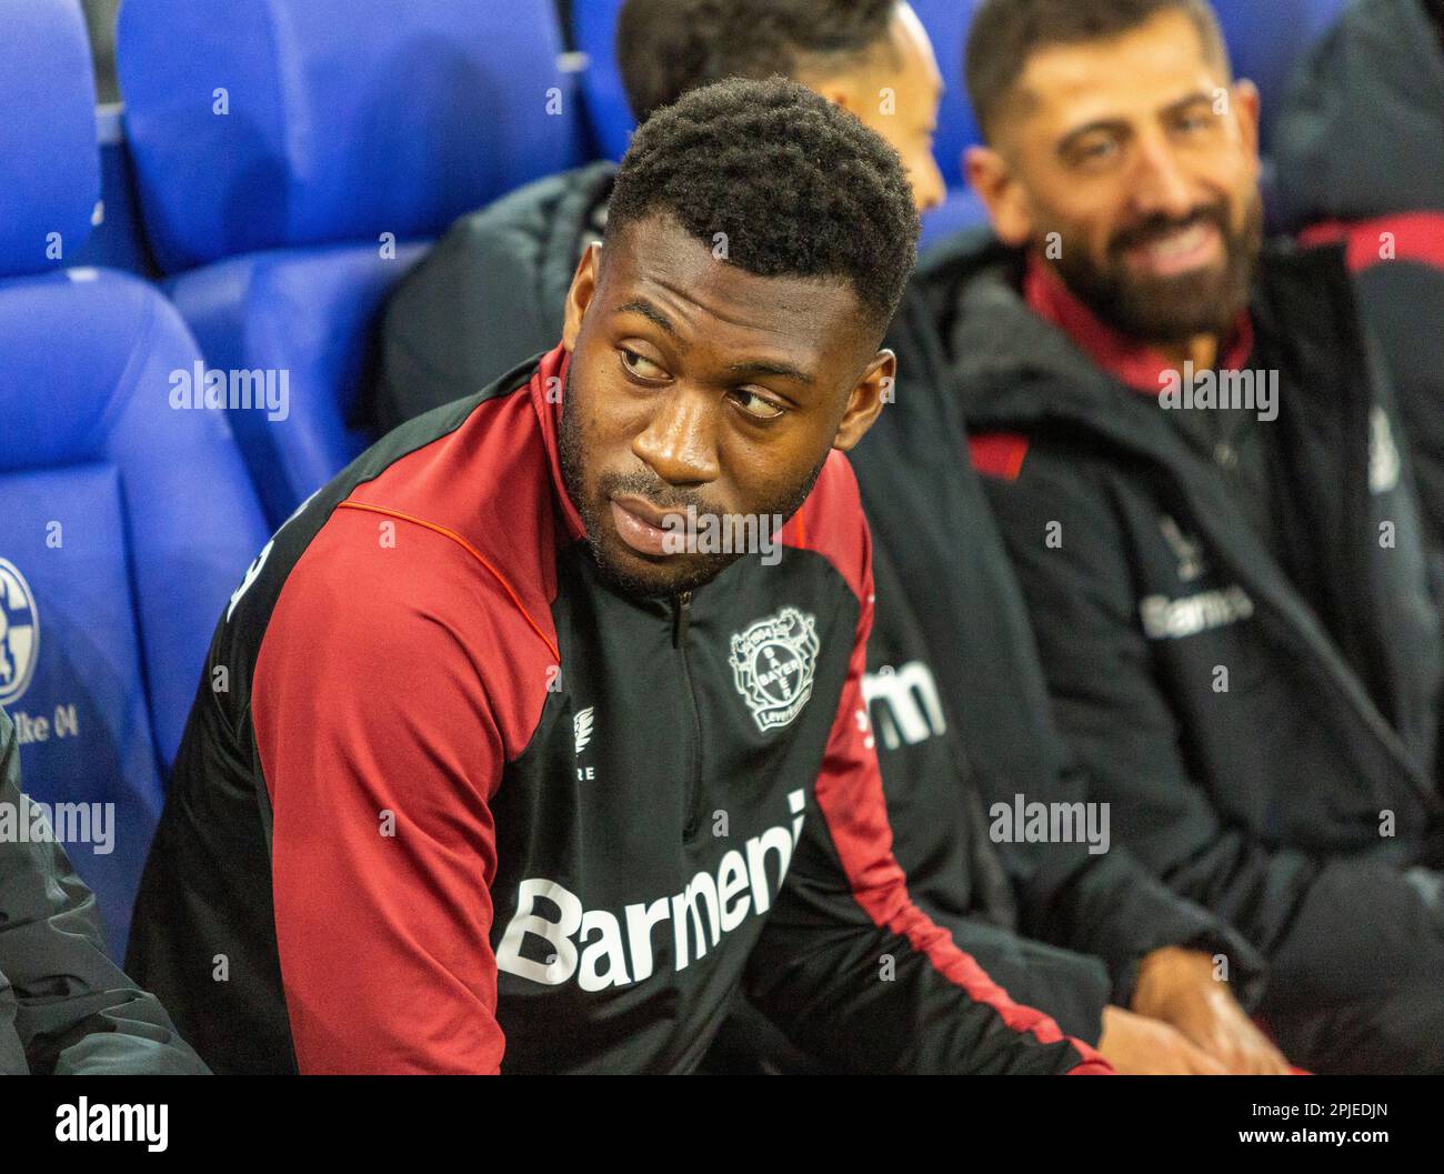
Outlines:
[{"label": "upper right of two clasped hands, emerging from black cuff", "polygon": [[1162,1019],[1233,1076],[1287,1076],[1289,1063],[1239,1006],[1213,962],[1197,950],[1168,946],[1138,972],[1132,1009]]}]

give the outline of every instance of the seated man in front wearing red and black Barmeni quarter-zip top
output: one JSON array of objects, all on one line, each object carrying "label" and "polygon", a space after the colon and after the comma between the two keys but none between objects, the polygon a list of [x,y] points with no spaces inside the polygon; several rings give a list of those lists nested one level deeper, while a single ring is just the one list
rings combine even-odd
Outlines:
[{"label": "seated man in front wearing red and black Barmeni quarter-zip top", "polygon": [[214,1067],[686,1071],[742,986],[845,1067],[1108,1070],[891,852],[842,452],[915,240],[856,118],[695,91],[632,140],[560,345],[282,527],[131,931]]}]

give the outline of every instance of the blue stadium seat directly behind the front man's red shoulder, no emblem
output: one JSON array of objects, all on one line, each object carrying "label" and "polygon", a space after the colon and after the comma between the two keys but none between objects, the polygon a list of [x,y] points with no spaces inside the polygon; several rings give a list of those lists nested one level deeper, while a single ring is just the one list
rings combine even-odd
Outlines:
[{"label": "blue stadium seat directly behind the front man's red shoulder, no emblem", "polygon": [[166,289],[214,368],[287,388],[283,419],[232,412],[273,524],[365,446],[348,412],[371,328],[425,243],[576,162],[560,49],[552,0],[121,7],[127,136]]}]

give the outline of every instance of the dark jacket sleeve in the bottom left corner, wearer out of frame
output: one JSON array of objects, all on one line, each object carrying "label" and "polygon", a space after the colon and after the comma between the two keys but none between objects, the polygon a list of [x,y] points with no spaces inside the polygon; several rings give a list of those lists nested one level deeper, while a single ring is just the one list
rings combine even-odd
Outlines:
[{"label": "dark jacket sleeve in the bottom left corner, wearer out of frame", "polygon": [[[0,710],[0,809],[29,820]],[[205,1074],[170,1017],[107,956],[94,894],[58,843],[0,836],[0,1071]]]}]

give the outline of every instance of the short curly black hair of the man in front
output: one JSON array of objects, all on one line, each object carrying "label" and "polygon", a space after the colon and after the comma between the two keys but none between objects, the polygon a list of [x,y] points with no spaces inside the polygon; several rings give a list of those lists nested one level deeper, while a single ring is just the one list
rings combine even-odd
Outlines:
[{"label": "short curly black hair of the man in front", "polygon": [[725,234],[726,263],[758,277],[846,280],[879,338],[917,258],[897,152],[784,78],[693,90],[643,124],[617,172],[606,243],[654,215],[708,248]]}]

